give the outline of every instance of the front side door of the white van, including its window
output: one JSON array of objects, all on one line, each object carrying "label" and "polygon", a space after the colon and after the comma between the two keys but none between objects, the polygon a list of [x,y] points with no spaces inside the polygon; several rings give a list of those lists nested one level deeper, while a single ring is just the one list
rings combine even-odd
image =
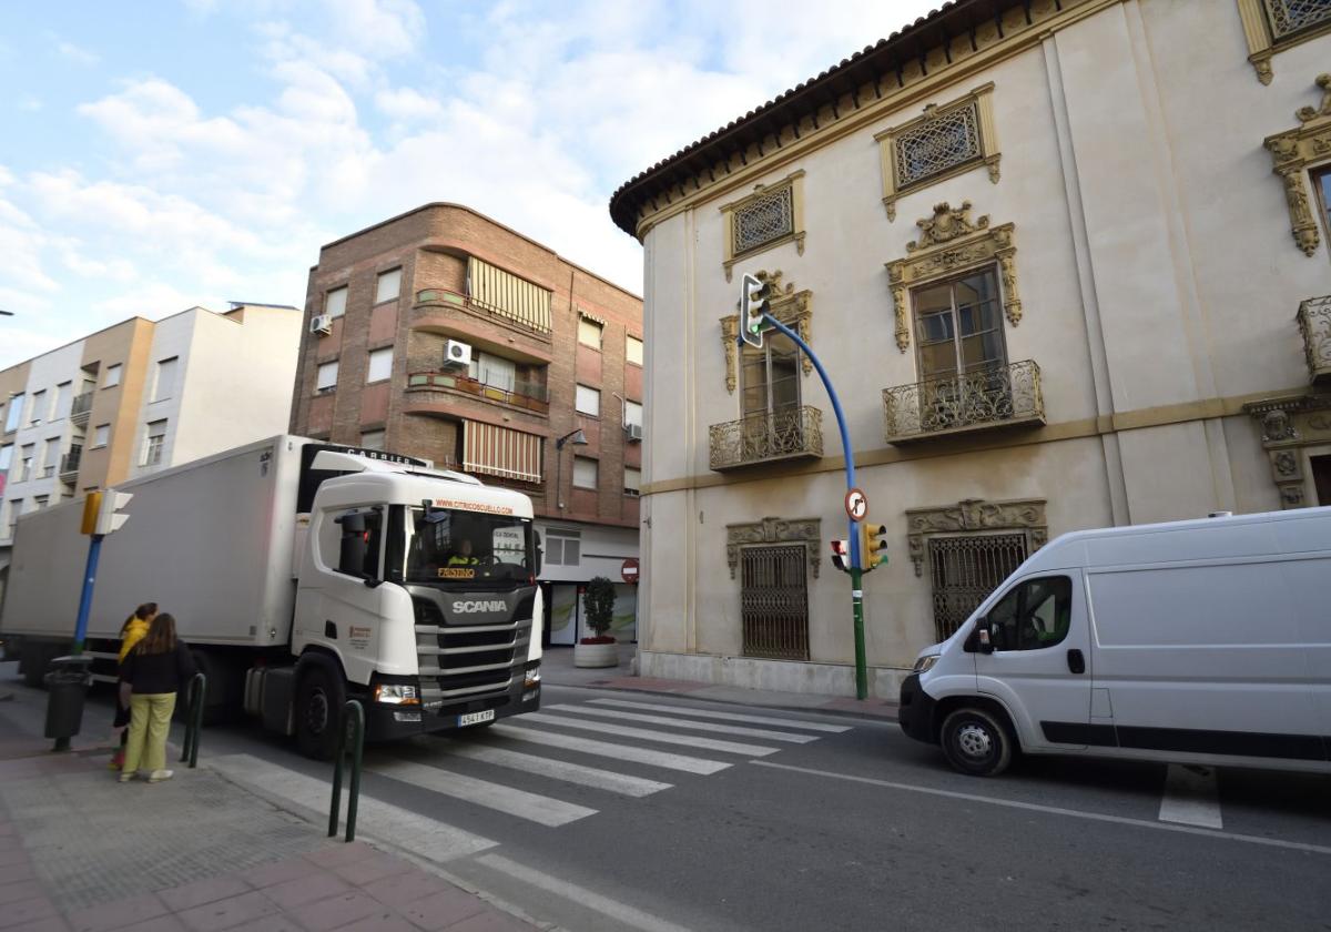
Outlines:
[{"label": "front side door of the white van, including its window", "polygon": [[1022,746],[1085,747],[1091,654],[1082,573],[1016,581],[980,626],[993,651],[976,654],[977,687],[1008,707]]}]

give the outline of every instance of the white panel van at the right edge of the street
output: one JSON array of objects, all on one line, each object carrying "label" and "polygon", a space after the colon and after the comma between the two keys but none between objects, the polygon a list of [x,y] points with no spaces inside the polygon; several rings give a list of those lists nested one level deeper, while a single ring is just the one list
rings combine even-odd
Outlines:
[{"label": "white panel van at the right edge of the street", "polygon": [[1016,751],[1331,772],[1331,507],[1065,534],[901,686],[901,728]]}]

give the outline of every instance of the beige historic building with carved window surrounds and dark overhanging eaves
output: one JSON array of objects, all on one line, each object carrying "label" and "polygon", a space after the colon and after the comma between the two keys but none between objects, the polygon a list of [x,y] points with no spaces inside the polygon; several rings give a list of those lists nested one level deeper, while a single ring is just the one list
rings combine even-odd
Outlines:
[{"label": "beige historic building with carved window surrounds and dark overhanging eaves", "polygon": [[1328,63],[1328,3],[957,0],[626,182],[642,672],[853,692],[836,421],[741,273],[888,529],[878,695],[1053,535],[1331,505]]}]

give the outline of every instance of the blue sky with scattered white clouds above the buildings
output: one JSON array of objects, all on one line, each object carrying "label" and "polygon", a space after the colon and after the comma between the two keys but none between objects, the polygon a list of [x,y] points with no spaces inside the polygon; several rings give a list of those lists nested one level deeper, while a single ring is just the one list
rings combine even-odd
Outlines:
[{"label": "blue sky with scattered white clouds above the buildings", "polygon": [[466,204],[642,293],[619,185],[940,0],[65,0],[0,8],[0,369]]}]

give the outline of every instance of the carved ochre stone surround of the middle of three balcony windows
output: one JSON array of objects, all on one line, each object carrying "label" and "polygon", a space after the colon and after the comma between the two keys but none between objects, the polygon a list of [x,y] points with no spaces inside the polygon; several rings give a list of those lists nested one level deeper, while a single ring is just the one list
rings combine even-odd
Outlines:
[{"label": "carved ochre stone surround of the middle of three balcony windows", "polygon": [[896,313],[897,349],[905,353],[910,348],[909,289],[992,262],[998,264],[1004,316],[1012,326],[1021,322],[1014,224],[990,226],[988,214],[972,221],[970,201],[962,201],[956,210],[944,201],[934,205],[933,217],[917,220],[916,226],[921,233],[906,244],[910,256],[884,262]]}]

